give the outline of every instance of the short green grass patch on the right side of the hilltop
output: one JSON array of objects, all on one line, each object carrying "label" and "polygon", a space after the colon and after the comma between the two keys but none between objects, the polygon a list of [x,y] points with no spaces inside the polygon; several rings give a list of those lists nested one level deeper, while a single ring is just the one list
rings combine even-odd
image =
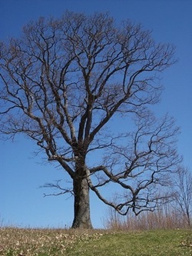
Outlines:
[{"label": "short green grass patch on the right side of the hilltop", "polygon": [[191,231],[137,231],[104,234],[99,241],[82,241],[68,256],[181,256],[192,255]]}]

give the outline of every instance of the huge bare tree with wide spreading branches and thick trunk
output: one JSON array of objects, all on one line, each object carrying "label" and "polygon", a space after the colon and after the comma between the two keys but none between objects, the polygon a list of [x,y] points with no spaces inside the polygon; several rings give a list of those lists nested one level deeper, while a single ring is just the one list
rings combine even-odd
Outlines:
[{"label": "huge bare tree with wide spreading branches and thick trunk", "polygon": [[[0,51],[0,130],[28,135],[68,173],[72,227],[92,227],[90,189],[121,214],[153,210],[180,160],[174,121],[148,108],[159,101],[157,74],[174,63],[174,47],[130,21],[65,12],[30,22]],[[118,204],[101,193],[111,184]]]}]

